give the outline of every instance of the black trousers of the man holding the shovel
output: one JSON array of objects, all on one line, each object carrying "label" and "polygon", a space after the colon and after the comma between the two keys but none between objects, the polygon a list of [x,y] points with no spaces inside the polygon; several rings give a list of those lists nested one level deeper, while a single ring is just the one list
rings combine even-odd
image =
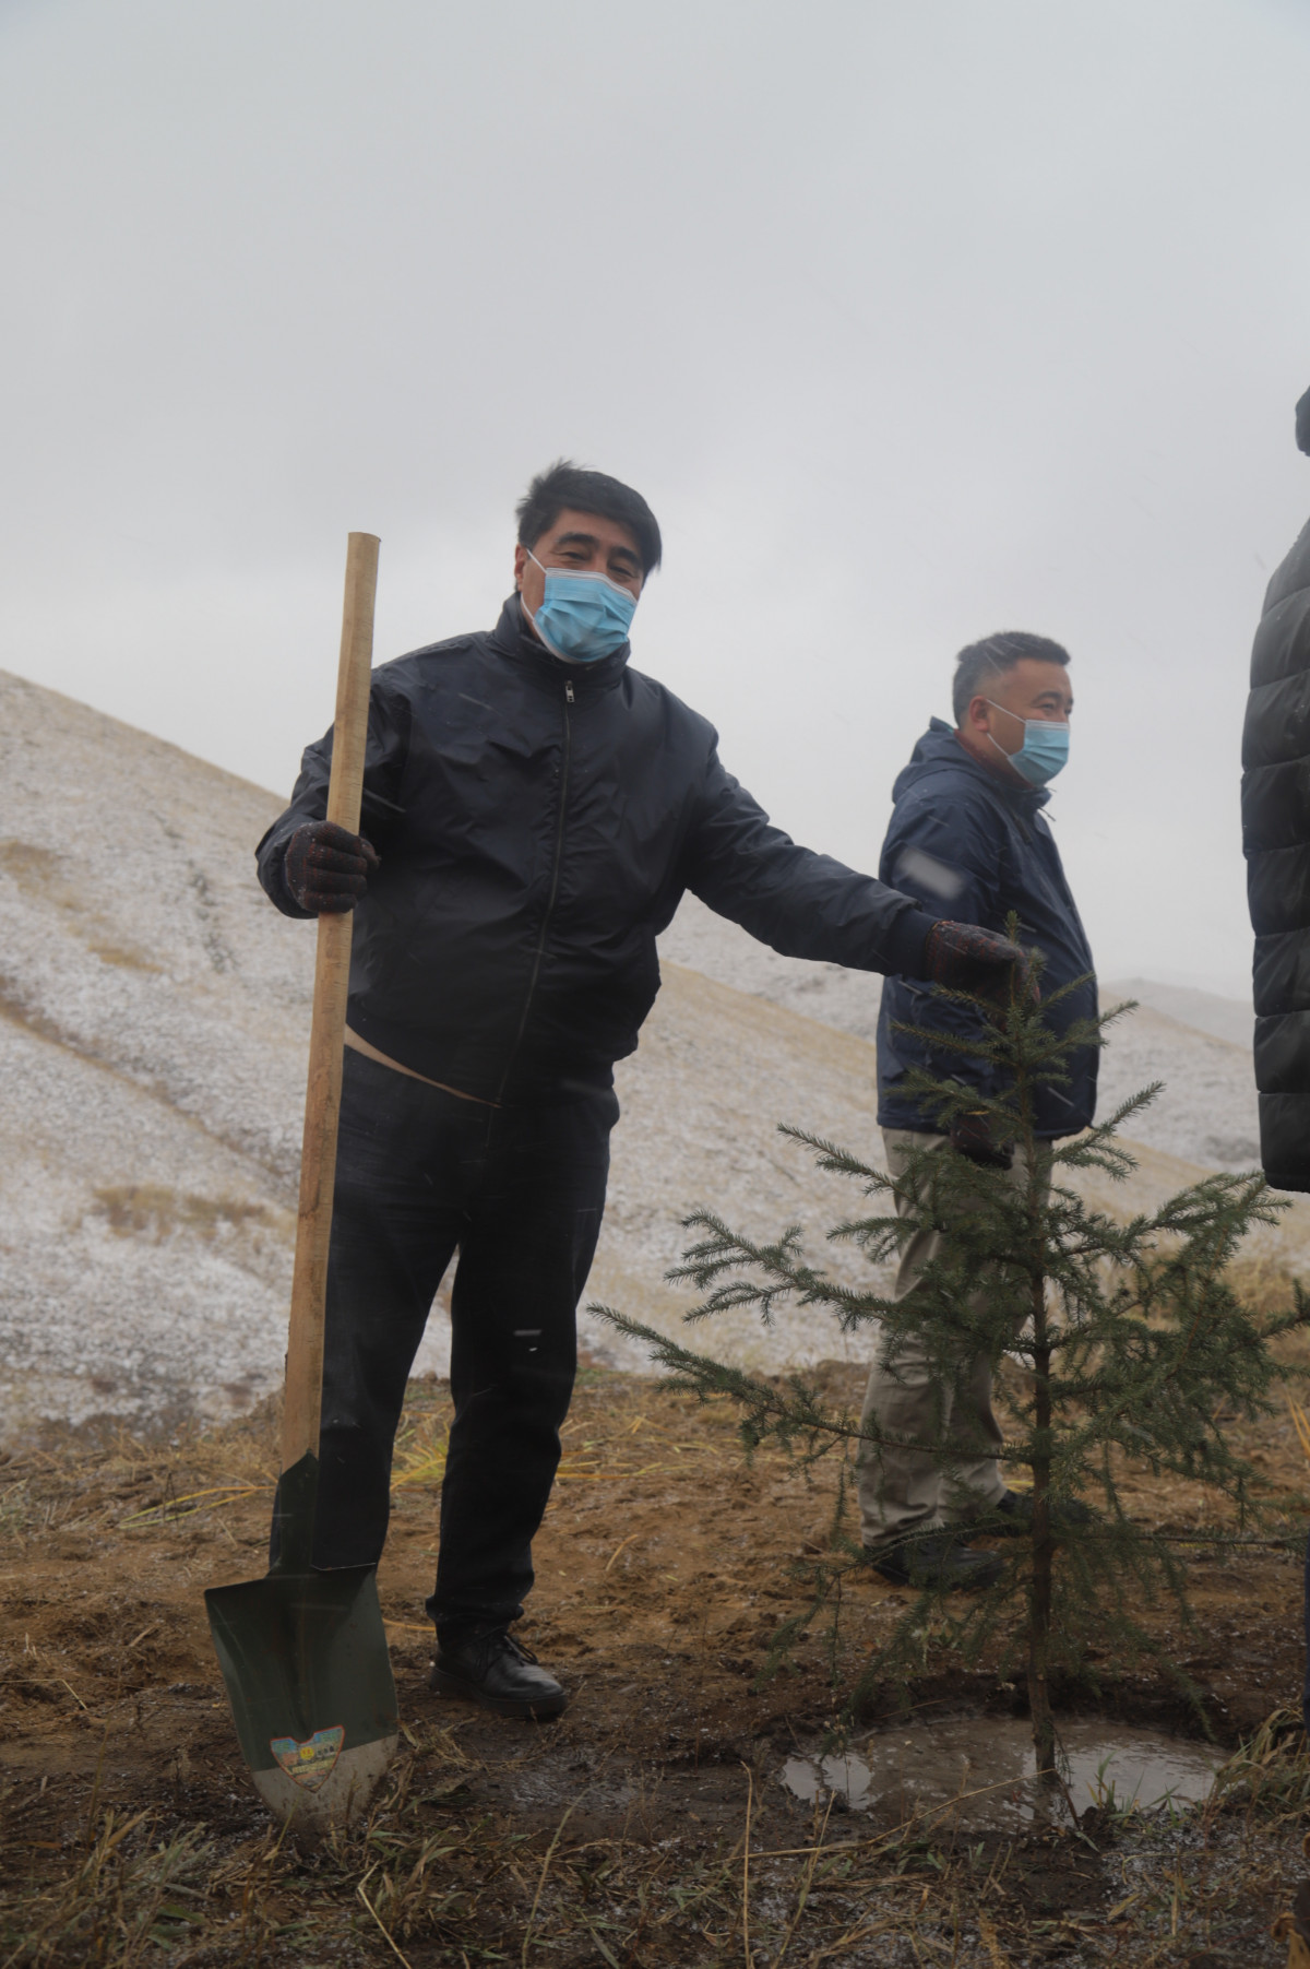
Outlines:
[{"label": "black trousers of the man holding the shovel", "polygon": [[439,1626],[523,1613],[616,1120],[612,1089],[490,1109],[346,1048],[315,1565],[372,1565],[382,1556],[405,1382],[458,1246],[454,1422],[427,1611]]}]

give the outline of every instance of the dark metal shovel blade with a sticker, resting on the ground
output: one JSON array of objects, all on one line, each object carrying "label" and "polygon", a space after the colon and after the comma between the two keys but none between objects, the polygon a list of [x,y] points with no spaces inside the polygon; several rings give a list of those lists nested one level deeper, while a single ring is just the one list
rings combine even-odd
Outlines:
[{"label": "dark metal shovel blade with a sticker, resting on the ground", "polygon": [[[287,1530],[313,1524],[317,1477],[317,1457],[283,1471]],[[395,1683],[374,1567],[315,1573],[305,1536],[285,1540],[283,1559],[266,1579],[210,1587],[205,1607],[256,1790],[279,1819],[317,1835],[354,1823],[386,1772],[399,1737]]]}]

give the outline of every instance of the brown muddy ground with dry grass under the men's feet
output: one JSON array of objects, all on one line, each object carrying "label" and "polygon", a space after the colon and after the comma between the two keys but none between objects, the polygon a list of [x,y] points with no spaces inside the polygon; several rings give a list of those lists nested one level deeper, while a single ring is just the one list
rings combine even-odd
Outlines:
[{"label": "brown muddy ground with dry grass under the men's feet", "polygon": [[[832,1366],[828,1392],[858,1398]],[[521,1638],[570,1689],[521,1725],[427,1691],[435,1506],[448,1416],[415,1382],[380,1595],[403,1743],[370,1827],[277,1845],[232,1735],[207,1585],[264,1571],[275,1418],[173,1445],[94,1431],[0,1469],[0,1963],[641,1965],[1280,1963],[1302,1876],[1310,1760],[1265,1735],[1210,1806],[1100,1811],[1072,1829],[952,1831],[779,1782],[836,1713],[818,1638],[767,1682],[806,1603],[834,1471],[745,1465],[732,1416],[651,1380],[582,1374]],[[1310,1512],[1290,1420],[1237,1429],[1288,1524]],[[1125,1479],[1135,1516],[1214,1522],[1200,1487]],[[1210,1514],[1210,1516],[1208,1516]],[[905,1611],[875,1575],[846,1595],[852,1676]],[[1300,1567],[1247,1550],[1192,1565],[1196,1626],[1149,1613],[1227,1748],[1300,1695]],[[1082,1713],[1196,1733],[1151,1670]],[[1013,1715],[1021,1689],[928,1652],[919,1719]],[[883,1691],[863,1727],[897,1713]],[[1310,1823],[1310,1821],[1306,1821]]]}]

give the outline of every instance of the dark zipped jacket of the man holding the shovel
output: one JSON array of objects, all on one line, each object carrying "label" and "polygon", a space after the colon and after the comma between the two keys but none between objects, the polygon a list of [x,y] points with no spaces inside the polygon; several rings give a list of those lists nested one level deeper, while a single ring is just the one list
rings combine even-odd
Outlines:
[{"label": "dark zipped jacket of the man holding the shovel", "polygon": [[[305,914],[285,849],[325,817],[330,760],[328,732],[256,851],[285,916]],[[627,644],[561,664],[515,597],[494,630],[374,671],[362,831],[382,866],[354,914],[350,1026],[486,1101],[610,1079],[688,888],[787,957],[858,971],[923,975],[942,916],[797,847]]]}]

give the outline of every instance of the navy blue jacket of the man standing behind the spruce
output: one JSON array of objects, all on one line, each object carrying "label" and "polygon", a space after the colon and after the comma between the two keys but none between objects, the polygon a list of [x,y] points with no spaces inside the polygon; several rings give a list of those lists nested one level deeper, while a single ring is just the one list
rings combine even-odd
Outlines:
[{"label": "navy blue jacket of the man standing behind the spruce", "polygon": [[[901,894],[919,896],[928,910],[960,923],[1003,931],[1011,910],[1017,912],[1021,943],[1037,945],[1046,957],[1044,992],[1092,971],[1088,937],[1042,815],[1048,799],[1044,788],[1011,786],[987,772],[948,725],[932,719],[893,788],[895,811],[879,868],[883,882],[895,882]],[[1096,979],[1088,979],[1052,1010],[1050,1022],[1064,1032],[1096,1008]],[[968,1006],[913,979],[887,979],[877,1018],[877,1118],[883,1128],[936,1132],[940,1126],[905,1093],[909,1067],[989,1095],[1003,1093],[983,1059],[893,1032],[897,1022],[956,1036],[978,1030],[978,1016]],[[1037,1132],[1042,1138],[1078,1134],[1092,1124],[1096,1067],[1096,1048],[1080,1049],[1070,1083],[1039,1091]]]}]

